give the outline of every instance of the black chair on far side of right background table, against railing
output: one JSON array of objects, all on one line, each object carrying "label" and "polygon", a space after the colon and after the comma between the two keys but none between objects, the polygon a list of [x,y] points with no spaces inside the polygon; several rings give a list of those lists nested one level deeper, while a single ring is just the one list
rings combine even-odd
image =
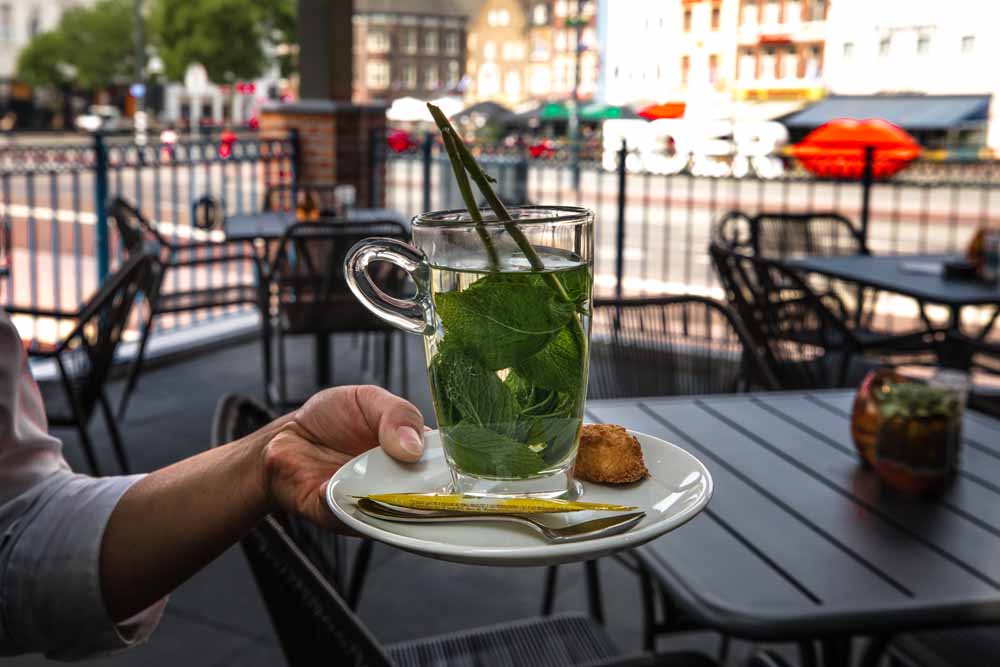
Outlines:
[{"label": "black chair on far side of right background table, against railing", "polygon": [[[725,248],[773,260],[871,254],[861,230],[832,211],[763,212],[754,216],[730,211],[713,227],[712,240]],[[821,276],[809,276],[807,281],[818,292],[836,295],[855,325],[871,327],[879,296],[876,290]]]}]

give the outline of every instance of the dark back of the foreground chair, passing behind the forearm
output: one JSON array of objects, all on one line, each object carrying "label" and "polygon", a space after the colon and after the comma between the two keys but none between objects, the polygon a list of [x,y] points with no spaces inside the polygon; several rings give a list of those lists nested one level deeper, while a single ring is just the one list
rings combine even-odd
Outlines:
[{"label": "dark back of the foreground chair, passing behind the forearm", "polygon": [[[248,435],[273,418],[251,398],[225,396],[216,408],[212,446]],[[303,523],[268,516],[241,543],[288,664],[391,667],[392,660],[294,537],[292,528]],[[329,533],[318,534],[332,541]]]}]

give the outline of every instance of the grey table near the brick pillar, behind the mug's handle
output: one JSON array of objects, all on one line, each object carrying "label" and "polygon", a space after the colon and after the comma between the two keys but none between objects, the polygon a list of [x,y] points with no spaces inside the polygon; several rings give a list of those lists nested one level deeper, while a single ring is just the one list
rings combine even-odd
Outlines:
[{"label": "grey table near the brick pillar, behind the mug's handle", "polygon": [[[388,208],[352,208],[342,219],[346,222],[380,222],[392,220],[409,229],[409,220],[399,211]],[[262,213],[241,213],[228,216],[223,223],[227,240],[243,239],[262,241],[267,248],[279,241],[285,231],[298,222],[294,211],[269,211]],[[263,261],[267,264],[269,253],[265,250]],[[265,276],[265,279],[267,277]],[[316,384],[322,388],[330,384],[330,335],[317,333],[316,341]]]}]

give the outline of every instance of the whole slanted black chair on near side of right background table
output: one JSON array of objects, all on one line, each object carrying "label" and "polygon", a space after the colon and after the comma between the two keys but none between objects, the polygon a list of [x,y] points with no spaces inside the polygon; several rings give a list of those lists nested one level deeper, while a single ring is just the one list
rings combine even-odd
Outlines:
[{"label": "whole slanted black chair on near side of right background table", "polygon": [[709,253],[729,302],[783,389],[851,386],[863,355],[928,361],[942,332],[884,335],[850,324],[835,293],[817,293],[780,262],[716,243]]}]

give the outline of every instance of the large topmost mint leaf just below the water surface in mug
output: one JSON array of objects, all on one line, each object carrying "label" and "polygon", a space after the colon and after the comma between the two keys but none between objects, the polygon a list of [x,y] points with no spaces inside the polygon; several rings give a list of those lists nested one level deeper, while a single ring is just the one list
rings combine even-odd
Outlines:
[{"label": "large topmost mint leaf just below the water surface in mug", "polygon": [[434,302],[445,331],[474,348],[490,370],[537,353],[574,311],[533,275],[489,274],[461,292],[435,295]]}]

